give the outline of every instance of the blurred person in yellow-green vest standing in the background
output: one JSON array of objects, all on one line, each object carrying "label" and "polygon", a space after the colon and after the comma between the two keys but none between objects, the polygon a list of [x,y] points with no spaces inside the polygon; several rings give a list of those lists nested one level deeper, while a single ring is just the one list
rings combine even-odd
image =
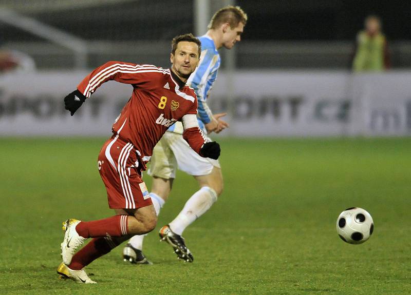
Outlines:
[{"label": "blurred person in yellow-green vest standing in the background", "polygon": [[365,19],[365,30],[357,35],[352,69],[354,72],[380,72],[389,66],[387,41],[381,32],[381,20],[376,15],[370,15]]}]

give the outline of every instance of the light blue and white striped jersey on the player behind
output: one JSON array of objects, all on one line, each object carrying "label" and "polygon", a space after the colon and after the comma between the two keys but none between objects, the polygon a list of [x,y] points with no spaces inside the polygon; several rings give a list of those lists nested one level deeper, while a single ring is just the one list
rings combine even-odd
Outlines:
[{"label": "light blue and white striped jersey on the player behind", "polygon": [[[200,63],[194,73],[190,75],[187,84],[194,89],[197,95],[198,125],[205,131],[204,124],[210,123],[213,119],[213,113],[207,105],[207,98],[216,80],[221,60],[212,38],[203,35],[199,37],[199,40],[201,41]],[[177,123],[167,131],[182,133],[182,125]]]}]

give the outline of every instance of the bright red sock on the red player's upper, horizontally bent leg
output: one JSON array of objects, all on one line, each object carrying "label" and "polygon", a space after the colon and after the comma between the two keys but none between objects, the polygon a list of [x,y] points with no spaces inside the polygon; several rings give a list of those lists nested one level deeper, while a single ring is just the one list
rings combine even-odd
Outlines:
[{"label": "bright red sock on the red player's upper, horizontally bent leg", "polygon": [[76,226],[76,231],[86,239],[107,237],[107,235],[110,237],[121,237],[122,235],[127,235],[127,220],[128,215],[115,215],[106,219],[82,221]]}]

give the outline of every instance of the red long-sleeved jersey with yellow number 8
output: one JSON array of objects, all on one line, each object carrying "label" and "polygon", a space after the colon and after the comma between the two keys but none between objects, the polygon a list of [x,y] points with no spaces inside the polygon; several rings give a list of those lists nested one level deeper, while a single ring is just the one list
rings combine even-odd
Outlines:
[{"label": "red long-sleeved jersey with yellow number 8", "polygon": [[[87,75],[77,88],[88,98],[109,80],[134,88],[112,131],[134,145],[142,164],[150,160],[154,146],[167,128],[186,114],[197,114],[194,90],[182,83],[171,69],[153,65],[108,62]],[[206,142],[200,128],[184,130],[183,137],[200,154]]]}]

